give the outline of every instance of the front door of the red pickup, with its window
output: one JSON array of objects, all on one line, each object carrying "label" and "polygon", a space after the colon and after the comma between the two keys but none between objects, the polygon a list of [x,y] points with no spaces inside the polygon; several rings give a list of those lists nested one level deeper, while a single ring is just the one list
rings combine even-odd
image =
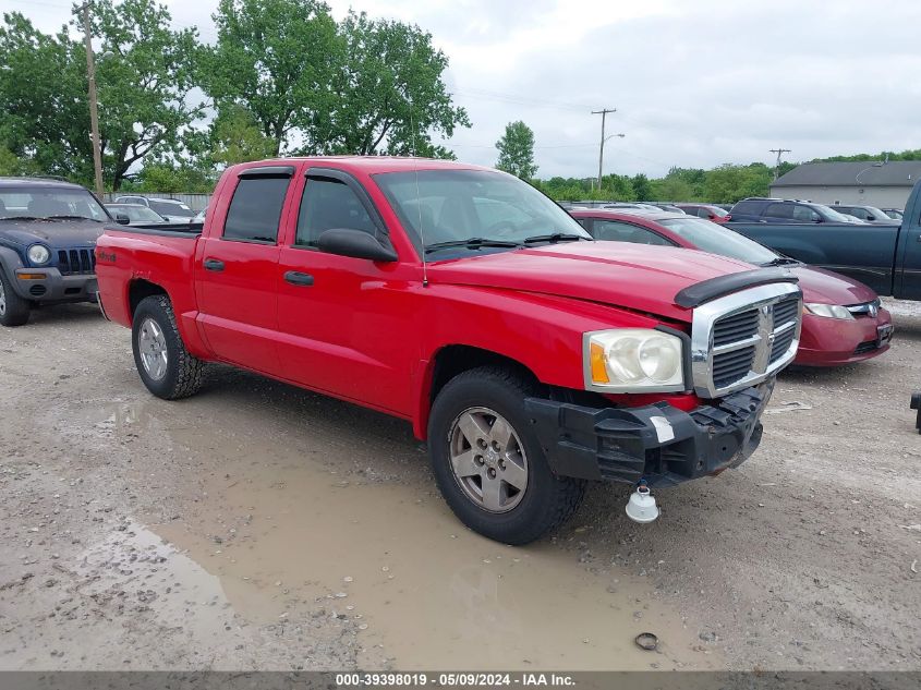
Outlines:
[{"label": "front door of the red pickup, with its window", "polygon": [[[313,168],[278,265],[279,355],[284,377],[306,388],[408,416],[412,294],[405,267],[317,249],[335,228],[388,242],[383,220],[351,175]],[[416,354],[415,361],[419,360]]]}]

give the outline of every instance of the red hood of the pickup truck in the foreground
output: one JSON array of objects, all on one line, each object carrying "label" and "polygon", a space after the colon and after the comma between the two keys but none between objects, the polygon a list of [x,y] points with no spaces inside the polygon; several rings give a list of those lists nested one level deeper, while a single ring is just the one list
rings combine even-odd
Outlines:
[{"label": "red hood of the pickup truck in the foreground", "polygon": [[429,264],[429,281],[537,292],[602,302],[680,322],[691,310],[675,295],[752,266],[679,247],[570,242]]}]

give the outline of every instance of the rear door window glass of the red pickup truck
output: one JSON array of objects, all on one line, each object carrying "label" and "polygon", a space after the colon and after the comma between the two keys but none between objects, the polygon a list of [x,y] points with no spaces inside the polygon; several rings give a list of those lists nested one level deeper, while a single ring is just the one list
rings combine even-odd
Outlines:
[{"label": "rear door window glass of the red pickup truck", "polygon": [[241,178],[227,211],[223,239],[274,244],[289,182],[288,177]]}]

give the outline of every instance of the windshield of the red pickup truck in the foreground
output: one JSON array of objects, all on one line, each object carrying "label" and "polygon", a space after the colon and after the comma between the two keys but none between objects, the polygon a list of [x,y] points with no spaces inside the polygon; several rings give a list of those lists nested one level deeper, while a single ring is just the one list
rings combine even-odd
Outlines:
[{"label": "windshield of the red pickup truck in the foreground", "polygon": [[541,192],[501,172],[386,172],[375,182],[420,251],[507,251],[541,241],[592,239]]}]

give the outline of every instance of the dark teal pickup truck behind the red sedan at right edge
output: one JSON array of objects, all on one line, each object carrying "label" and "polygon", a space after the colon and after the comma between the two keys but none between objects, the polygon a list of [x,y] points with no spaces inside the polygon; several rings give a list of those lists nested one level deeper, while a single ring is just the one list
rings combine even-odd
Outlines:
[{"label": "dark teal pickup truck behind the red sedan at right edge", "polygon": [[[744,204],[746,202],[739,202]],[[795,202],[778,202],[796,206]],[[921,300],[921,183],[914,185],[901,226],[826,222],[803,217],[787,222],[737,222],[728,227],[805,264],[828,268],[870,286],[876,293]]]}]

